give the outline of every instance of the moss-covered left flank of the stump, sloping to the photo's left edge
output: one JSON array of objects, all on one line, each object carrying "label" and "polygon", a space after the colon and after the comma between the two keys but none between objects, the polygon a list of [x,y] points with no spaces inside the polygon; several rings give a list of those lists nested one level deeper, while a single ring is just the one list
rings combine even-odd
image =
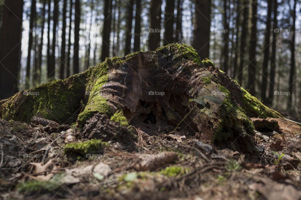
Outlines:
[{"label": "moss-covered left flank of the stump, sloping to the photo's left edge", "polygon": [[40,113],[46,119],[71,123],[79,113],[86,83],[85,73],[80,73],[21,91],[0,103],[1,117],[28,123]]}]

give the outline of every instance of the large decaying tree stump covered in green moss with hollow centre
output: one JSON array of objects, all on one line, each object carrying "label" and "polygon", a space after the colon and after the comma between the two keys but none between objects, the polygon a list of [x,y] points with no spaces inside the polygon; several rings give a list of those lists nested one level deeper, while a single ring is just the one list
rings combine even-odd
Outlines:
[{"label": "large decaying tree stump covered in green moss with hollow centre", "polygon": [[179,131],[199,132],[203,140],[247,152],[254,150],[249,117],[281,117],[185,44],[107,58],[28,92],[2,100],[1,118],[29,122],[41,113],[59,123],[77,120],[83,127],[98,112],[123,125],[151,128],[161,121],[176,126],[189,113]]}]

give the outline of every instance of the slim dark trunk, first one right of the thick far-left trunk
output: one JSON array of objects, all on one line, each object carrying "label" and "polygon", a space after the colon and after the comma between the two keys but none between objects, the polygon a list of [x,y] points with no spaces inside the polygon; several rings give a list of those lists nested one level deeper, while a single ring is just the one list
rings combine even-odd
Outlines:
[{"label": "slim dark trunk, first one right of the thick far-left trunk", "polygon": [[29,37],[28,37],[28,52],[27,52],[27,63],[26,63],[26,80],[25,87],[29,88],[29,79],[30,79],[30,66],[31,66],[31,49],[33,43],[33,32],[34,32],[34,19],[36,15],[36,0],[31,1],[30,8],[30,19],[29,19]]}]

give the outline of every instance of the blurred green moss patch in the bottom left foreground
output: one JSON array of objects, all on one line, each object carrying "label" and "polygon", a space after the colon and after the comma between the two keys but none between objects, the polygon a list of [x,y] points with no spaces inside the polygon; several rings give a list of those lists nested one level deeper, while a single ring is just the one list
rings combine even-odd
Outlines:
[{"label": "blurred green moss patch in the bottom left foreground", "polygon": [[19,183],[16,186],[18,192],[33,193],[33,192],[57,192],[60,186],[61,174],[57,174],[50,181],[30,180],[25,183]]}]

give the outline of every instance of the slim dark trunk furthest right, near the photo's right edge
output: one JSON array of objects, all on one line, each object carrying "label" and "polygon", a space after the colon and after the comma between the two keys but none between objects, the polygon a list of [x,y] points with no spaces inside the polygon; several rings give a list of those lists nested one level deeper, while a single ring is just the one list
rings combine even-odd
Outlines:
[{"label": "slim dark trunk furthest right, near the photo's right edge", "polygon": [[288,91],[290,95],[288,95],[288,109],[293,110],[293,88],[294,88],[294,73],[295,73],[295,38],[296,38],[296,4],[297,0],[294,0],[294,8],[293,8],[293,26],[292,26],[292,39],[290,41],[291,45],[291,68],[290,68],[290,73],[289,73],[289,86],[288,86]]}]

